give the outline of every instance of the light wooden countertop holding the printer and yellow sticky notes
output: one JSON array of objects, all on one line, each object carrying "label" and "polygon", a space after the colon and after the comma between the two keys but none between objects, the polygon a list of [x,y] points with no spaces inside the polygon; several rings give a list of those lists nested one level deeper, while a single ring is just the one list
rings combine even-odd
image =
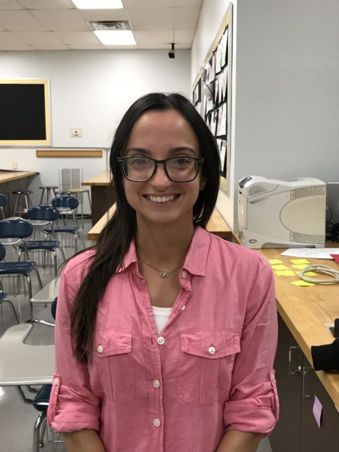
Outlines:
[{"label": "light wooden countertop holding the printer and yellow sticky notes", "polygon": [[[329,247],[337,244],[326,243]],[[292,267],[291,256],[281,256],[285,249],[261,249],[258,251],[267,259],[279,259],[284,265]],[[309,265],[327,265],[339,270],[339,264],[329,259],[307,259]],[[319,276],[320,278],[322,277]],[[277,276],[275,274],[277,309],[287,327],[293,334],[307,360],[312,364],[311,346],[331,344],[334,337],[324,323],[334,323],[339,317],[339,284],[297,287],[290,284],[298,281],[298,275]],[[329,278],[329,277],[328,277]],[[339,373],[316,372],[321,383],[339,409]]]}]

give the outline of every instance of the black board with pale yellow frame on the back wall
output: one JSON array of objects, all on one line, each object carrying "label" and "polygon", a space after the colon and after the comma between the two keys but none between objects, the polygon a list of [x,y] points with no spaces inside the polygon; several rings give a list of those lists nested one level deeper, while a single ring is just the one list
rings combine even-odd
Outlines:
[{"label": "black board with pale yellow frame on the back wall", "polygon": [[0,105],[0,146],[51,145],[49,80],[0,80]]}]

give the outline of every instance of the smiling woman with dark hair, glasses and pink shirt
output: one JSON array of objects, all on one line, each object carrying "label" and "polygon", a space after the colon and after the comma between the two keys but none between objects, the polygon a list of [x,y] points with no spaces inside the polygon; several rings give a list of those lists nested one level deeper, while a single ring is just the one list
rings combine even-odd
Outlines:
[{"label": "smiling woman with dark hair, glasses and pink shirt", "polygon": [[255,451],[278,416],[273,277],[205,231],[212,135],[185,97],[147,94],[110,168],[116,213],[60,281],[49,424],[69,452]]}]

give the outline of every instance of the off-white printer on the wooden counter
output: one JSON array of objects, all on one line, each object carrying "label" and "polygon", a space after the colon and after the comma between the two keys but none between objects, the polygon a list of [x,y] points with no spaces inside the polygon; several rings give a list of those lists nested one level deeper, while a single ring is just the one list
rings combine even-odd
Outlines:
[{"label": "off-white printer on the wooden counter", "polygon": [[248,248],[323,248],[326,183],[313,177],[239,181],[238,226]]}]

